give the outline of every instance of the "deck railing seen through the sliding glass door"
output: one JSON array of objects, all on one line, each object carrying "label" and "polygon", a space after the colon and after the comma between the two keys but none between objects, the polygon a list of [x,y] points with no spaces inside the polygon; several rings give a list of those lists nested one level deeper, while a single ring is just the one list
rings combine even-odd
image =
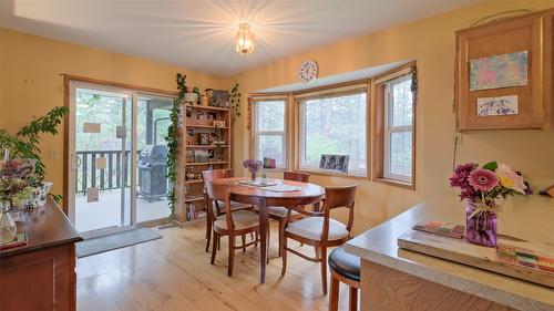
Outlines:
[{"label": "deck railing seen through the sliding glass door", "polygon": [[[126,169],[123,169],[122,151],[81,151],[76,152],[79,168],[76,174],[76,191],[96,187],[99,190],[120,189],[131,185],[131,152],[125,151]],[[96,158],[105,157],[106,167],[96,169]]]}]

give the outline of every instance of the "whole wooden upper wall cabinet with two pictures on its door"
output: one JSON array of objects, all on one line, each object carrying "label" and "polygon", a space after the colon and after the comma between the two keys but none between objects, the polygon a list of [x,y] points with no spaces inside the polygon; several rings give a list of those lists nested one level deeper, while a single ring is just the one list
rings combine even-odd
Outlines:
[{"label": "whole wooden upper wall cabinet with two pictures on its door", "polygon": [[554,10],[456,32],[459,131],[547,128]]}]

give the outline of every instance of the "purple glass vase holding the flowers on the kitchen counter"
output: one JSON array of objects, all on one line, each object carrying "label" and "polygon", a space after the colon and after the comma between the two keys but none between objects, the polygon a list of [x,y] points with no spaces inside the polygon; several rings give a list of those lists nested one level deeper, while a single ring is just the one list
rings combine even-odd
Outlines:
[{"label": "purple glass vase holding the flowers on the kitchen counter", "polygon": [[465,206],[465,239],[475,245],[496,247],[497,221],[496,212],[475,212],[475,205],[468,203]]}]

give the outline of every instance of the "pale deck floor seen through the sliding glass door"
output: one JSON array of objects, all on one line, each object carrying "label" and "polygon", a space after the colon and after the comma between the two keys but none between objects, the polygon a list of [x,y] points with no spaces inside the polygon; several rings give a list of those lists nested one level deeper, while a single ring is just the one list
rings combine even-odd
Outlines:
[{"label": "pale deck floor seen through the sliding glass door", "polygon": [[[160,219],[170,216],[167,199],[148,203],[136,198],[136,221]],[[125,190],[124,225],[131,220],[131,189]],[[88,203],[86,196],[75,196],[75,227],[80,232],[121,226],[121,190],[101,191],[99,201]]]}]

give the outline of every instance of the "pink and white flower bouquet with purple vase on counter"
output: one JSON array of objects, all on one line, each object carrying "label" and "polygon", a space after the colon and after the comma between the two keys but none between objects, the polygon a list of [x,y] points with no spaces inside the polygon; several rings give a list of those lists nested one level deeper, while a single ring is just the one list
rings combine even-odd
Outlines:
[{"label": "pink and white flower bouquet with purple vase on counter", "polygon": [[458,165],[449,179],[451,187],[461,189],[460,198],[466,199],[465,239],[485,247],[496,246],[496,217],[504,200],[532,193],[520,173],[496,162],[482,168],[475,163]]}]

